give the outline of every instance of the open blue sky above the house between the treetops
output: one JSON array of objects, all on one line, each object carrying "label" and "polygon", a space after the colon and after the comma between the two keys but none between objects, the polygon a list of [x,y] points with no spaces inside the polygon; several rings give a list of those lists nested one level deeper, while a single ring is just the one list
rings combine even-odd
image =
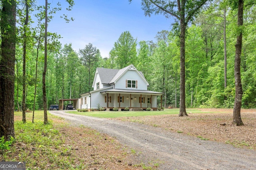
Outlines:
[{"label": "open blue sky above the house between the treetops", "polygon": [[[44,3],[44,1],[40,0]],[[56,4],[57,0],[48,0]],[[66,2],[60,1],[62,9]],[[85,45],[92,43],[100,50],[102,57],[109,57],[110,50],[121,33],[130,31],[139,41],[155,41],[158,31],[170,30],[173,20],[162,15],[146,17],[141,9],[141,0],[74,0],[75,5],[70,12],[62,10],[54,15],[48,24],[48,31],[56,32],[63,38],[62,45],[72,43],[73,49],[78,52]],[[75,20],[66,23],[59,18],[60,14],[68,14]]]}]

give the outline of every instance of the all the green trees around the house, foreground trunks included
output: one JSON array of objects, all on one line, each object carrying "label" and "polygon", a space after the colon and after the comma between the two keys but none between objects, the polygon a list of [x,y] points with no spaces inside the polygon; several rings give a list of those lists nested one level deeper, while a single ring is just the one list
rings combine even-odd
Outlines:
[{"label": "all the green trees around the house, foreground trunks included", "polygon": [[[102,58],[92,43],[74,51],[71,43],[60,43],[61,35],[47,31],[59,2],[56,7],[47,0],[2,0],[0,136],[14,135],[14,110],[22,109],[26,123],[26,109],[44,109],[46,124],[51,104],[92,90],[97,67],[129,64],[143,72],[148,90],[164,93],[164,105],[180,107],[179,116],[187,115],[186,107],[234,107],[233,123],[243,125],[240,107],[256,108],[254,0],[141,2],[145,16],[173,17],[172,29],[140,42],[124,30]],[[63,3],[68,11],[74,6],[74,0]],[[66,22],[73,20],[62,12]]]}]

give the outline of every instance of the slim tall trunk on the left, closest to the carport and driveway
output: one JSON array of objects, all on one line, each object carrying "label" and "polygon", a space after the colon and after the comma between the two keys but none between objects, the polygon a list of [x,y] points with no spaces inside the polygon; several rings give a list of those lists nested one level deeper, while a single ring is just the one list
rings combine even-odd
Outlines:
[{"label": "slim tall trunk on the left, closest to the carport and driveway", "polygon": [[43,72],[43,102],[44,102],[44,124],[48,123],[47,117],[47,103],[46,103],[46,70],[47,70],[47,6],[48,2],[45,0],[45,30],[44,30],[44,72]]}]

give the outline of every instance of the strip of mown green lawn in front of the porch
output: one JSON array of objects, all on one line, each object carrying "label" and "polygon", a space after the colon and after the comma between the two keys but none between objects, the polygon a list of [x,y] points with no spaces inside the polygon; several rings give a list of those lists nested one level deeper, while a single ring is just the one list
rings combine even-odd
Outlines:
[{"label": "strip of mown green lawn in front of the porch", "polygon": [[[186,109],[187,113],[207,113],[199,109]],[[151,116],[151,115],[172,115],[179,114],[179,109],[164,109],[164,111],[67,111],[68,113],[86,115],[101,118],[115,118],[115,117],[138,117],[138,116]]]}]

